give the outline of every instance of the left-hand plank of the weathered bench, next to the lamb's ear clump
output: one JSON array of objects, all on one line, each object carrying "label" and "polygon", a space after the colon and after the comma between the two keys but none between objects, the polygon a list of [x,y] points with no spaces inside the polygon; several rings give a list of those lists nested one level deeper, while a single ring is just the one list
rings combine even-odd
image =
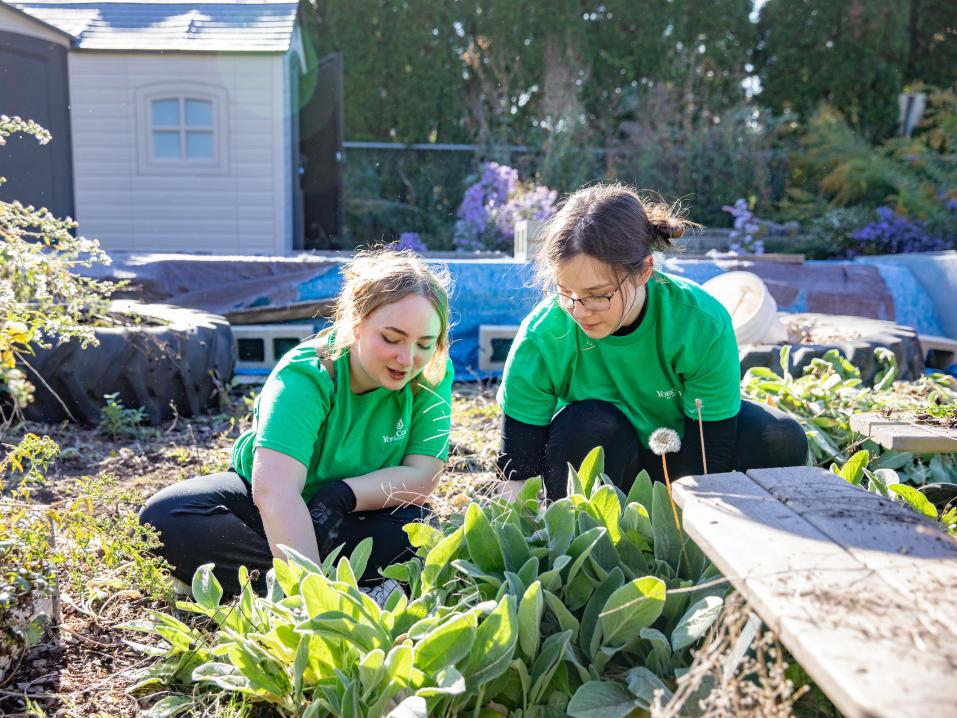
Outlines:
[{"label": "left-hand plank of the weathered bench, next to the lamb's ear clump", "polygon": [[844,715],[953,713],[955,666],[925,650],[908,597],[743,474],[686,477],[674,495],[691,538]]}]

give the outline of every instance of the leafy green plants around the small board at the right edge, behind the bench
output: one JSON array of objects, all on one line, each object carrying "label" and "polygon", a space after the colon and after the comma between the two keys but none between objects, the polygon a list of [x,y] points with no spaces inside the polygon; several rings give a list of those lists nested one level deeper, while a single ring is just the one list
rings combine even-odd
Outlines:
[{"label": "leafy green plants around the small board at the right edge, behind the bench", "polygon": [[741,391],[744,397],[775,406],[797,419],[818,465],[844,463],[860,445],[869,451],[871,469],[894,469],[907,483],[957,480],[957,454],[883,451],[871,440],[862,441],[850,427],[851,415],[857,413],[957,408],[957,380],[932,374],[916,382],[895,382],[897,360],[885,348],[875,350],[882,370],[873,387],[862,384],[860,371],[836,349],[811,360],[804,375],[794,377],[788,370],[790,351],[789,346],[781,349],[781,375],[766,367],[752,367],[741,380]]}]

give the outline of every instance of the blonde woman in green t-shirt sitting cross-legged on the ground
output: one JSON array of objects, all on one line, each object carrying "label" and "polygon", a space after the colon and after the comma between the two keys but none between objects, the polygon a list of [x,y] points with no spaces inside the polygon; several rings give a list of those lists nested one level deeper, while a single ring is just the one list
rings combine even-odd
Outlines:
[{"label": "blonde woman in green t-shirt sitting cross-legged on the ground", "polygon": [[215,563],[227,593],[279,545],[318,562],[364,538],[361,577],[411,554],[402,527],[426,501],[448,453],[452,366],[449,279],[407,253],[358,255],[344,270],[331,329],[288,352],[263,386],[229,471],[169,486],[147,501],[174,576]]}]

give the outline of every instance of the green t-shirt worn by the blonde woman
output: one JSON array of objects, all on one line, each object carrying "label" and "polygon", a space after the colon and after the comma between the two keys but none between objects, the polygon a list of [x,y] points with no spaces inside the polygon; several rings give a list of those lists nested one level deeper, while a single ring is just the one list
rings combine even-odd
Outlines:
[{"label": "green t-shirt worn by the blonde woman", "polygon": [[306,468],[308,501],[326,481],[399,466],[409,454],[448,456],[452,362],[438,386],[424,379],[393,391],[364,394],[349,388],[349,354],[335,361],[335,379],[316,353],[316,341],[289,351],[272,370],[253,406],[253,426],[233,446],[233,467],[252,480],[260,446],[291,456]]}]

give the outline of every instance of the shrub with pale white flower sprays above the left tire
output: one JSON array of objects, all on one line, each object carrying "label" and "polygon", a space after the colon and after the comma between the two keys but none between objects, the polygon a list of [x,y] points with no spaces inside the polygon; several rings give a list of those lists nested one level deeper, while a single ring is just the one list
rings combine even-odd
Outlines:
[{"label": "shrub with pale white flower sprays above the left tire", "polygon": [[[43,145],[50,141],[35,122],[0,115],[0,146],[16,132]],[[93,327],[81,319],[105,313],[113,285],[74,270],[110,260],[96,241],[74,237],[76,227],[43,208],[0,202],[0,397],[6,394],[16,407],[26,406],[35,389],[20,368],[31,343],[46,346],[54,337],[96,343]],[[6,419],[0,417],[0,431]]]}]

